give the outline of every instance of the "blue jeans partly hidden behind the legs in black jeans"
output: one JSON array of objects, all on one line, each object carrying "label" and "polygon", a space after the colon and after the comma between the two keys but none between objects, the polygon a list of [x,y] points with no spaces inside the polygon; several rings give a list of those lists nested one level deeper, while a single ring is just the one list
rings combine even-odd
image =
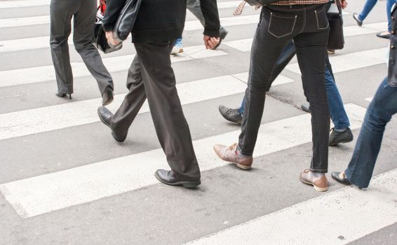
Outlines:
[{"label": "blue jeans partly hidden behind the legs in black jeans", "polygon": [[[291,56],[292,55],[292,56]],[[290,59],[295,55],[295,46],[292,42],[288,43],[283,52],[281,52],[280,57],[278,57],[276,65],[271,72],[271,81],[278,76],[279,73],[284,69],[285,65],[288,64]],[[327,62],[325,66],[325,88],[327,90],[328,106],[330,106],[330,116],[332,123],[335,125],[335,130],[344,130],[350,126],[349,118],[347,117],[346,111],[344,111],[344,106],[342,102],[342,97],[340,97],[339,90],[335,83],[335,78],[332,73],[332,66],[327,57]],[[245,97],[241,106],[238,109],[241,115],[244,113]]]}]

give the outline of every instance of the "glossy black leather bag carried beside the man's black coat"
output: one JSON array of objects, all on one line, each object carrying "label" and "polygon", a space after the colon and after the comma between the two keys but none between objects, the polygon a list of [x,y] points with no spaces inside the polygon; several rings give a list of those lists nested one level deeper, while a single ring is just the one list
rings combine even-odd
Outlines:
[{"label": "glossy black leather bag carried beside the man's black coat", "polygon": [[113,29],[114,38],[118,41],[127,39],[130,32],[133,30],[135,20],[137,20],[138,10],[142,0],[127,0],[123,9],[119,14]]}]

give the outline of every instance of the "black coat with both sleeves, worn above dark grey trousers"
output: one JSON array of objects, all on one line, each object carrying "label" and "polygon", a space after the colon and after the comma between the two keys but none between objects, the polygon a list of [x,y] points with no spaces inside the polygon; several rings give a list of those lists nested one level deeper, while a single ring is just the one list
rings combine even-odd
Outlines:
[{"label": "black coat with both sleeves, worn above dark grey trousers", "polygon": [[[107,0],[105,31],[111,31],[126,0]],[[133,43],[156,43],[182,37],[186,0],[142,0],[131,31]],[[216,0],[200,0],[206,20],[203,34],[219,36],[220,20]]]}]

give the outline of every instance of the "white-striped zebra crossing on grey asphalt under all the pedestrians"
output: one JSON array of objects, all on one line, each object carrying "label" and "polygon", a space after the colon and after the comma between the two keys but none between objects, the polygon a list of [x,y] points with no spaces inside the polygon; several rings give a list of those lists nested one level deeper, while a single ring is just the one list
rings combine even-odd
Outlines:
[{"label": "white-striped zebra crossing on grey asphalt under all the pedestrians", "polygon": [[[231,13],[240,2],[218,1],[220,13],[223,13],[220,16],[222,26],[230,28],[227,39],[218,50],[206,50],[203,45],[192,41],[191,36],[201,34],[203,27],[197,20],[187,20],[184,52],[171,57],[177,78],[187,76],[177,83],[177,90],[191,126],[196,157],[203,173],[203,184],[198,190],[171,188],[156,181],[153,176],[156,169],[169,168],[158,144],[145,148],[142,142],[135,141],[133,137],[129,137],[124,144],[114,143],[109,130],[97,117],[96,109],[101,102],[99,96],[88,96],[83,87],[79,90],[83,95],[71,101],[55,100],[55,96],[48,95],[54,92],[53,87],[45,85],[55,84],[51,59],[41,61],[40,66],[29,62],[34,60],[29,55],[50,52],[46,34],[33,31],[34,34],[29,35],[29,38],[0,34],[1,64],[6,64],[10,55],[20,55],[20,64],[13,65],[13,69],[0,67],[0,103],[13,108],[10,112],[0,113],[0,166],[5,169],[18,166],[18,169],[9,173],[0,170],[0,207],[4,207],[5,211],[1,211],[1,214],[5,215],[5,220],[25,226],[27,234],[31,234],[30,230],[35,231],[36,227],[53,223],[55,229],[72,232],[68,233],[71,236],[78,236],[79,229],[82,229],[86,234],[105,237],[106,232],[100,232],[97,230],[100,229],[99,225],[93,224],[99,222],[106,226],[106,221],[102,221],[105,214],[113,209],[124,210],[127,205],[131,214],[140,210],[142,216],[142,220],[127,221],[124,225],[137,231],[134,237],[127,235],[128,229],[119,231],[120,237],[130,237],[127,244],[348,244],[389,225],[396,225],[397,193],[393,186],[396,186],[397,162],[392,160],[392,157],[397,156],[396,151],[386,148],[384,154],[391,158],[382,158],[386,163],[381,165],[382,171],[375,173],[375,179],[366,191],[343,188],[330,180],[330,190],[320,195],[297,179],[297,169],[300,171],[302,167],[309,167],[311,117],[297,109],[300,104],[295,103],[299,100],[303,102],[304,99],[300,69],[295,60],[278,76],[267,97],[267,105],[271,104],[271,107],[265,108],[252,171],[238,172],[213,153],[213,144],[231,144],[240,133],[237,126],[225,123],[220,116],[214,116],[220,102],[233,103],[228,106],[238,105],[247,87],[248,57],[260,11],[247,10],[240,16],[232,16]],[[48,8],[49,3],[50,0],[0,1],[0,31],[49,26],[49,16],[41,13],[29,17],[15,15],[13,18],[1,18],[1,11],[29,10],[32,6],[37,9]],[[241,29],[238,35],[233,33],[242,26],[245,31]],[[346,40],[354,41],[373,36],[385,26],[386,22],[379,21],[357,27],[354,22],[345,20],[344,34],[349,38]],[[72,46],[72,43],[69,45]],[[380,78],[386,74],[386,45],[384,42],[357,48],[346,43],[344,50],[330,56],[335,77],[344,78],[341,80],[349,78],[349,81],[340,83],[339,90],[343,95],[346,94],[345,109],[355,136],[363,123],[365,106],[372,100]],[[24,55],[25,52],[27,55]],[[112,75],[126,75],[134,55],[133,48],[124,48],[118,54],[102,57]],[[81,59],[73,58],[72,69],[74,78],[90,79],[90,73]],[[195,71],[197,69],[206,69],[211,75],[198,73]],[[363,78],[377,80],[374,83]],[[119,107],[126,94],[126,90],[122,89],[124,82],[115,83],[116,96],[108,106],[111,111]],[[360,90],[351,91],[351,86],[356,85],[360,86]],[[79,84],[76,86],[79,87]],[[10,91],[20,92],[27,87],[42,93],[44,105],[41,103],[37,106],[27,94],[11,99],[7,96]],[[13,104],[8,104],[11,102]],[[29,109],[18,109],[27,103],[31,104]],[[188,109],[197,111],[191,113]],[[152,132],[148,113],[149,106],[145,102],[136,120],[139,127],[147,128],[145,132]],[[74,141],[67,135],[60,135],[62,132],[83,134],[88,129],[93,139]],[[139,133],[133,132],[135,136]],[[151,139],[150,135],[142,135],[140,139],[154,142],[155,139]],[[107,141],[102,142],[102,147],[97,141],[103,139]],[[56,156],[36,155],[37,150],[43,147],[40,144],[43,141],[62,145],[60,158],[65,159],[55,161],[53,159]],[[37,143],[31,144],[31,148],[17,151],[15,147],[26,146],[27,142]],[[81,151],[69,153],[70,145],[76,145]],[[97,147],[90,151],[91,154],[95,153],[90,156],[93,160],[80,160],[87,159],[82,156],[91,145]],[[140,150],[131,151],[134,147],[140,147]],[[346,144],[341,148],[330,148],[330,167],[346,167],[346,158],[350,156],[346,152],[351,152],[353,147],[354,144]],[[22,162],[14,162],[16,159]],[[30,169],[36,169],[36,174],[30,175],[24,171],[22,166],[28,162],[32,165]],[[281,181],[277,177],[278,173],[283,173],[283,179],[288,179],[290,186],[278,182]],[[250,186],[253,185],[251,181],[264,181],[273,186]],[[215,184],[210,186],[208,183]],[[233,190],[245,190],[245,193],[232,193]],[[173,194],[163,195],[163,192]],[[273,202],[280,200],[283,193],[290,195],[288,204]],[[148,204],[153,195],[164,197],[163,203]],[[269,198],[260,201],[259,195],[268,195]],[[114,200],[112,207],[107,206],[109,200]],[[156,209],[145,209],[151,205],[157,205]],[[264,209],[264,205],[268,208]],[[82,213],[76,215],[79,211]],[[163,214],[171,214],[172,217],[169,221],[156,219],[164,217]],[[55,222],[65,216],[75,216],[75,228],[66,230],[63,224]],[[190,217],[189,221],[184,219],[186,216]],[[347,216],[349,223],[346,222]],[[318,221],[323,223],[318,225]],[[123,223],[125,220],[120,217],[117,222]],[[172,228],[165,228],[164,224],[167,223]],[[194,229],[186,232],[187,224]],[[0,222],[0,230],[2,225]],[[18,225],[10,227],[17,229]],[[147,234],[153,228],[165,237]],[[18,244],[16,237],[13,237],[13,230],[7,231],[5,240],[0,238],[0,244]],[[316,235],[311,236],[314,231]],[[41,237],[39,240],[32,238],[26,244],[37,241],[39,244],[65,243],[50,237]],[[70,240],[67,243],[73,242]],[[76,244],[90,242],[81,238]]]}]

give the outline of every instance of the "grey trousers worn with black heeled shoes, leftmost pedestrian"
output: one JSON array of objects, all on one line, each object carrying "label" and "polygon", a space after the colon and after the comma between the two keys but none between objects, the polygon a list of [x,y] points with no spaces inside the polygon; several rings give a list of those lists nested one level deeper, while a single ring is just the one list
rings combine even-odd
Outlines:
[{"label": "grey trousers worn with black heeled shoes, leftmost pedestrian", "polygon": [[86,64],[88,71],[97,80],[101,94],[107,87],[113,89],[113,80],[102,63],[99,52],[93,45],[93,30],[97,12],[97,1],[51,0],[51,56],[57,78],[58,92],[73,93],[72,66],[69,59],[67,38],[74,17],[74,47]]}]

